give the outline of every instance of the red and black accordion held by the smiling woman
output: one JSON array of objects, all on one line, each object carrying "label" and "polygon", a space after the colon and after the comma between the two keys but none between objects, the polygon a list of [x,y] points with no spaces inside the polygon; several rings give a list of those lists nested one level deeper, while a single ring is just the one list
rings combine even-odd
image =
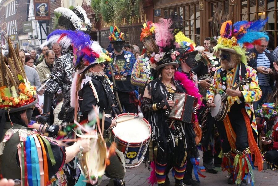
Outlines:
[{"label": "red and black accordion held by the smiling woman", "polygon": [[193,123],[195,119],[194,109],[197,105],[197,98],[185,93],[171,93],[168,100],[174,101],[171,110],[166,109],[165,115],[170,119]]}]

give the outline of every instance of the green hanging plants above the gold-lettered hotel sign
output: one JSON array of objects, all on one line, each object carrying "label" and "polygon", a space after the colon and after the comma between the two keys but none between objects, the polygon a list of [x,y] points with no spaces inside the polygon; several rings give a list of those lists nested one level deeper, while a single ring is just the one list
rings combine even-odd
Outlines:
[{"label": "green hanging plants above the gold-lettered hotel sign", "polygon": [[123,19],[132,23],[132,16],[143,12],[142,0],[92,0],[91,8],[95,11],[95,21],[102,19],[106,23],[121,24]]}]

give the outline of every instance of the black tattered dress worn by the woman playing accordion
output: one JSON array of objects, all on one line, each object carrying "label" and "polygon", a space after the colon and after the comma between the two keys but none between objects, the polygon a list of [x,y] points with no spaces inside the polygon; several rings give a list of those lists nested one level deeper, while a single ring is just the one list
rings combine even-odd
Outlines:
[{"label": "black tattered dress worn by the woman playing accordion", "polygon": [[[174,84],[176,93],[186,93],[180,82],[174,81]],[[142,105],[144,112],[148,112],[153,104],[167,101],[169,92],[158,78],[151,81],[147,89],[152,98],[150,104]],[[152,127],[153,147],[157,147],[157,154],[154,152],[157,162],[165,164],[172,159],[173,164],[180,165],[184,163],[187,154],[197,157],[196,135],[192,124],[175,120],[173,126],[169,128],[173,120],[165,115],[165,109],[150,112],[148,119]]]}]

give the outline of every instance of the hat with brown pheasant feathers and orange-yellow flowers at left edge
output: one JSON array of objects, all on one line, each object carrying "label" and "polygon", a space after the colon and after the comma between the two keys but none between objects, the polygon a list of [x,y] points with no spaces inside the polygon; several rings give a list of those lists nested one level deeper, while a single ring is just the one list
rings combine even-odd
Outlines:
[{"label": "hat with brown pheasant feathers and orange-yellow flowers at left edge", "polygon": [[0,51],[0,109],[12,113],[34,106],[37,100],[33,97],[36,87],[27,80],[18,50],[15,50],[10,38],[8,46],[7,58]]}]

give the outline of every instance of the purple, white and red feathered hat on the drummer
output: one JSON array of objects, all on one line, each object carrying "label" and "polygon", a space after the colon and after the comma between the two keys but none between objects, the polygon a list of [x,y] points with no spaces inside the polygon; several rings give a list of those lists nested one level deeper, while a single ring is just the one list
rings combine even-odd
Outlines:
[{"label": "purple, white and red feathered hat on the drummer", "polygon": [[112,60],[98,42],[91,41],[91,37],[81,31],[54,30],[40,47],[52,43],[58,43],[62,48],[73,48],[74,66],[79,74],[95,64]]}]

